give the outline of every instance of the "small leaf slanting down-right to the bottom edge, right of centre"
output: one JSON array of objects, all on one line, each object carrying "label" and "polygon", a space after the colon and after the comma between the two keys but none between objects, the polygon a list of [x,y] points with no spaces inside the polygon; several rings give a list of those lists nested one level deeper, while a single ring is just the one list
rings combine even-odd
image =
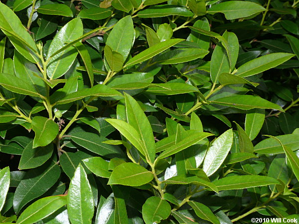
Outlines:
[{"label": "small leaf slanting down-right to the bottom edge, right of centre", "polygon": [[199,202],[193,202],[193,201],[189,201],[188,205],[194,209],[194,212],[199,218],[210,221],[213,224],[220,224],[218,218],[212,213],[209,207]]}]

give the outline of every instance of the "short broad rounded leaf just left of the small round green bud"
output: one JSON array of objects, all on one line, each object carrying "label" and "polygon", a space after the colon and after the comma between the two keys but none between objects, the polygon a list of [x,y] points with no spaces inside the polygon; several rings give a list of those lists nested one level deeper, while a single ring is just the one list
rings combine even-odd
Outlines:
[{"label": "short broad rounded leaf just left of the small round green bud", "polygon": [[32,129],[35,132],[33,148],[46,146],[57,136],[59,127],[52,119],[43,116],[32,118]]}]

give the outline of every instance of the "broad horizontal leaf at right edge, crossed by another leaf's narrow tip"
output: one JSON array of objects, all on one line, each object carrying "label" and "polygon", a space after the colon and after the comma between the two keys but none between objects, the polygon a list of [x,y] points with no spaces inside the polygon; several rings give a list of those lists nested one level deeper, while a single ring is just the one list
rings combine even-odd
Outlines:
[{"label": "broad horizontal leaf at right edge, crossed by another leaf's narrow tip", "polygon": [[[284,134],[276,136],[285,147],[295,151],[299,149],[299,135],[298,134]],[[267,138],[260,141],[254,146],[254,151],[261,154],[280,154],[284,153],[281,144],[273,138]]]}]

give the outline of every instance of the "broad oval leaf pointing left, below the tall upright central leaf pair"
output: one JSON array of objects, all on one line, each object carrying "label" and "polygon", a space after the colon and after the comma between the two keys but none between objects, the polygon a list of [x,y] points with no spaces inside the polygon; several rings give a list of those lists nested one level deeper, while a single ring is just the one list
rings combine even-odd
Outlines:
[{"label": "broad oval leaf pointing left, below the tall upright central leaf pair", "polygon": [[121,184],[127,186],[141,186],[153,179],[150,171],[136,163],[122,163],[115,167],[108,184]]}]

